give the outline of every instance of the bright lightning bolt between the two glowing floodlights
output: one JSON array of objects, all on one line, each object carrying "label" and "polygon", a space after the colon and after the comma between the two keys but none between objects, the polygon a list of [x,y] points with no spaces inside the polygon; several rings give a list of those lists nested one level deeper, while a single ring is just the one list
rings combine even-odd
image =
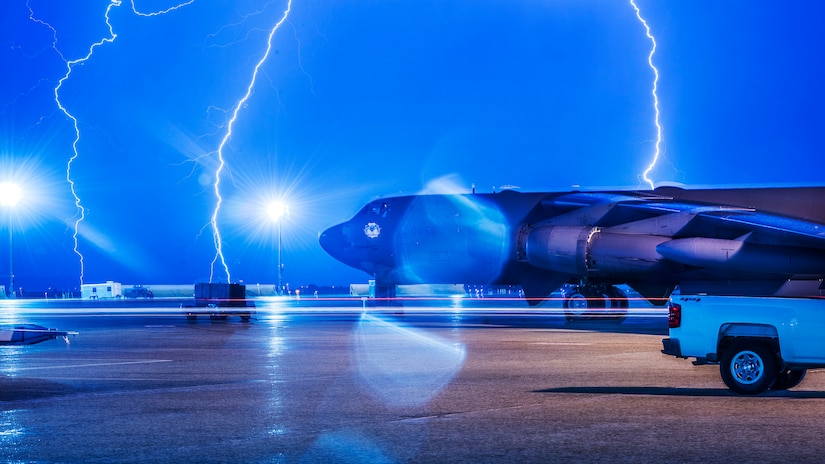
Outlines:
[{"label": "bright lightning bolt between the two glowing floodlights", "polygon": [[215,190],[215,210],[212,213],[212,219],[210,224],[212,225],[212,238],[215,243],[215,257],[212,259],[212,265],[209,269],[209,282],[211,283],[214,276],[215,276],[215,265],[217,264],[218,260],[220,260],[221,265],[223,266],[224,272],[226,273],[226,281],[231,282],[231,277],[229,275],[229,266],[226,264],[226,258],[223,255],[223,246],[222,246],[222,239],[221,239],[221,232],[218,229],[218,213],[221,209],[221,204],[223,203],[223,197],[221,196],[220,184],[221,184],[221,173],[226,167],[226,159],[223,155],[223,150],[226,147],[226,144],[229,142],[229,139],[232,138],[232,127],[235,125],[235,121],[238,119],[238,113],[241,111],[241,108],[246,104],[249,100],[249,97],[252,95],[252,89],[255,87],[255,81],[258,79],[258,71],[260,71],[261,66],[266,62],[267,58],[269,57],[269,53],[272,50],[272,38],[275,36],[275,32],[280,29],[281,25],[286,21],[287,17],[289,16],[289,11],[292,9],[292,0],[287,2],[286,10],[284,10],[284,15],[281,19],[272,27],[272,30],[269,31],[269,37],[266,42],[266,51],[264,52],[261,59],[258,61],[258,64],[255,65],[255,68],[252,72],[252,78],[249,81],[249,85],[246,88],[246,93],[244,96],[238,100],[235,104],[235,108],[232,110],[232,117],[229,119],[227,123],[226,134],[224,135],[223,139],[221,140],[220,145],[218,145],[218,168],[215,170],[215,183],[214,183],[214,190]]}]

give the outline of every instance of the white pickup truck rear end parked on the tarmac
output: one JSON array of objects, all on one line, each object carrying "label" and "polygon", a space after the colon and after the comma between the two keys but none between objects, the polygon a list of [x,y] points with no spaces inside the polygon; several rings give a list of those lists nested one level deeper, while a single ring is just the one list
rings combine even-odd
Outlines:
[{"label": "white pickup truck rear end parked on the tarmac", "polygon": [[825,367],[825,299],[674,295],[662,353],[719,364],[725,385],[756,395]]}]

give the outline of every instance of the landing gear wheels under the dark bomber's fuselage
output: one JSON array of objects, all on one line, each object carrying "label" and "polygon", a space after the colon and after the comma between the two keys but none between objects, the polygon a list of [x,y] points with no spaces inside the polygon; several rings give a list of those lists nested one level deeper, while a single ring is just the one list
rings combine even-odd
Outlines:
[{"label": "landing gear wheels under the dark bomber's fuselage", "polygon": [[605,318],[621,322],[627,316],[627,295],[612,285],[570,285],[562,294],[568,321]]}]

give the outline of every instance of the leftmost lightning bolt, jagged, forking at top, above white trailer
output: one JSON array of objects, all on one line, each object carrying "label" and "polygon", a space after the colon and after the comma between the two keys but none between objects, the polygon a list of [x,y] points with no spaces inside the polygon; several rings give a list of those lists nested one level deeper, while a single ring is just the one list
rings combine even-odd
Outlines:
[{"label": "leftmost lightning bolt, jagged, forking at top, above white trailer", "polygon": [[[161,14],[166,14],[170,11],[174,11],[174,10],[182,8],[186,5],[189,5],[189,4],[193,3],[194,1],[195,0],[189,0],[189,1],[181,3],[179,5],[170,7],[166,10],[157,11],[157,12],[153,12],[153,13],[142,13],[142,12],[138,11],[137,7],[135,6],[135,1],[134,0],[131,0],[131,5],[132,5],[132,11],[136,15],[138,15],[138,16],[147,16],[148,17],[148,16],[157,16],[157,15],[161,15]],[[60,80],[58,80],[57,86],[55,86],[55,88],[54,88],[54,101],[57,104],[57,107],[60,109],[60,111],[62,111],[63,114],[65,114],[66,117],[69,118],[69,120],[72,122],[72,127],[74,128],[74,133],[75,133],[74,141],[72,141],[72,155],[71,155],[71,157],[69,157],[69,161],[66,163],[66,182],[69,183],[69,189],[71,190],[72,197],[74,198],[74,204],[75,204],[75,207],[77,208],[77,213],[75,214],[76,219],[75,219],[75,222],[74,222],[74,231],[72,233],[72,241],[73,241],[72,250],[78,256],[78,259],[80,261],[80,284],[81,285],[83,285],[83,278],[85,276],[86,270],[85,270],[85,265],[84,265],[83,253],[80,252],[78,234],[79,234],[79,229],[80,229],[80,223],[83,222],[84,219],[86,219],[86,209],[83,207],[83,204],[80,200],[80,196],[77,193],[75,181],[72,178],[72,165],[77,160],[77,158],[80,156],[80,153],[79,153],[78,148],[77,148],[78,143],[80,143],[80,126],[79,126],[77,118],[60,101],[60,90],[63,88],[63,84],[69,79],[69,77],[71,77],[72,70],[74,70],[75,66],[82,65],[83,63],[85,63],[89,59],[91,59],[91,57],[94,54],[94,51],[95,51],[96,48],[98,48],[98,47],[100,47],[100,46],[102,46],[106,43],[112,43],[112,42],[115,41],[115,39],[117,38],[117,34],[114,31],[114,27],[112,27],[112,23],[110,22],[109,15],[112,12],[113,8],[119,7],[121,4],[122,4],[122,0],[111,0],[109,2],[109,4],[106,6],[106,13],[104,14],[104,18],[105,18],[105,21],[106,21],[106,26],[109,28],[109,36],[104,37],[104,38],[100,39],[99,41],[94,42],[92,45],[90,45],[89,46],[89,52],[86,54],[86,56],[84,56],[82,58],[77,58],[77,59],[74,59],[74,60],[67,60],[65,58],[65,56],[63,55],[63,53],[60,51],[60,49],[57,48],[57,30],[55,30],[55,28],[52,27],[51,24],[49,24],[49,23],[47,23],[43,20],[40,20],[38,18],[35,18],[34,10],[32,9],[31,5],[29,5],[28,1],[26,2],[26,6],[29,9],[29,19],[33,22],[36,22],[38,24],[42,24],[42,25],[48,27],[52,31],[52,35],[53,35],[52,48],[54,49],[55,52],[57,52],[57,54],[60,56],[60,58],[66,63],[66,74],[64,74],[63,77],[61,77]]]}]

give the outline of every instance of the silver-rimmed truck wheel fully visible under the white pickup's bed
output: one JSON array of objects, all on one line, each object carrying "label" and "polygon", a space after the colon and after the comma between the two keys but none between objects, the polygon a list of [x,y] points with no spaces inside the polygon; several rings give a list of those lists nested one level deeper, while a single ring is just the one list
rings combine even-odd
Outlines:
[{"label": "silver-rimmed truck wheel fully visible under the white pickup's bed", "polygon": [[758,395],[776,380],[776,360],[767,346],[736,342],[722,355],[719,365],[725,385],[736,393]]}]

